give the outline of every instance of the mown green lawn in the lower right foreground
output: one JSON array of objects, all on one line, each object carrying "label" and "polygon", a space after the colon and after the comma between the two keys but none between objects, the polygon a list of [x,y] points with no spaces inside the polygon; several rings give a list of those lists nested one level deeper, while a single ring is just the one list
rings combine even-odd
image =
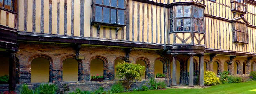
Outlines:
[{"label": "mown green lawn in the lower right foreground", "polygon": [[256,81],[220,84],[203,89],[165,89],[120,94],[256,94]]}]

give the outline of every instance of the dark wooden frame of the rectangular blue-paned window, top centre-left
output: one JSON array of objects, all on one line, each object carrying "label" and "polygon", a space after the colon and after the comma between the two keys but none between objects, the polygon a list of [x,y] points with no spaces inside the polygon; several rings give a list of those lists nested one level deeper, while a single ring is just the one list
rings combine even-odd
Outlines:
[{"label": "dark wooden frame of the rectangular blue-paned window, top centre-left", "polygon": [[[111,1],[109,0],[109,5],[104,5],[104,0],[102,0],[102,4],[98,4],[98,3],[96,3],[96,0],[92,0],[92,4],[91,4],[91,6],[92,6],[92,18],[91,18],[91,24],[92,25],[95,25],[95,24],[97,24],[97,25],[102,25],[102,26],[107,26],[107,27],[124,27],[124,26],[126,26],[126,6],[125,6],[125,2],[126,2],[126,0],[123,0],[123,2],[124,2],[124,7],[123,8],[119,8],[118,7],[118,0],[116,0],[117,2],[116,2],[116,6],[117,7],[113,7],[113,6],[111,6]],[[102,16],[101,16],[101,19],[102,19],[102,21],[100,22],[100,21],[96,21],[96,6],[99,6],[99,7],[102,7]],[[103,13],[103,8],[108,8],[110,11],[109,11],[109,22],[104,22],[103,21],[103,19],[104,19],[104,13]],[[115,21],[116,21],[116,23],[112,23],[111,22],[111,15],[112,15],[112,12],[111,12],[111,10],[116,10],[116,16],[115,16]],[[118,15],[118,13],[120,13],[120,11],[123,11],[123,15]],[[119,16],[120,17],[124,17],[123,19],[122,18],[119,18]],[[119,22],[118,20],[123,20],[122,22]],[[120,23],[120,24],[119,24]]]}]

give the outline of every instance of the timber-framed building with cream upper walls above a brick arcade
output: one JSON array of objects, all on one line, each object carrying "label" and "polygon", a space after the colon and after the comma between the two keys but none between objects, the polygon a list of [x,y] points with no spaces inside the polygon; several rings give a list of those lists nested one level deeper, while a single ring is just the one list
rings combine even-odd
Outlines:
[{"label": "timber-framed building with cream upper walls above a brick arcade", "polygon": [[[206,70],[256,69],[255,0],[0,0],[0,30],[0,76],[12,90],[109,88],[124,61],[145,66],[134,87],[157,73],[193,88]],[[97,74],[104,80],[91,81]]]}]

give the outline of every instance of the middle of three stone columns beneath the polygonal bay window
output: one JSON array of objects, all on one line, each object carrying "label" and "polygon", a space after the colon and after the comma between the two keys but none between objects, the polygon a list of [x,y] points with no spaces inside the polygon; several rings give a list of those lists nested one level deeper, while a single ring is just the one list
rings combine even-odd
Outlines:
[{"label": "middle of three stone columns beneath the polygonal bay window", "polygon": [[194,53],[189,54],[189,88],[194,88]]}]

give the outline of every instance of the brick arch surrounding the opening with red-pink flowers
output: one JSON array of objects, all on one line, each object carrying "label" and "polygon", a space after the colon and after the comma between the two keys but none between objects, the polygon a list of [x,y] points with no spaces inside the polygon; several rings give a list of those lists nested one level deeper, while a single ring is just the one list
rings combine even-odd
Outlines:
[{"label": "brick arch surrounding the opening with red-pink flowers", "polygon": [[[104,57],[104,56],[101,56],[101,55],[96,55],[96,56],[93,56],[93,57],[91,57],[91,59],[89,60],[89,64],[91,64],[91,62],[92,62],[92,60],[93,59],[100,59],[100,60],[102,60],[103,61],[103,67],[104,67],[104,69],[103,69],[103,78],[104,78],[104,80],[107,80],[108,79],[108,76],[107,76],[107,70],[108,70],[108,59],[106,58],[106,57]],[[89,67],[89,69],[91,69],[91,66]],[[90,70],[91,71],[91,70]],[[91,73],[91,72],[90,72]],[[90,74],[91,75],[91,74]]]}]

